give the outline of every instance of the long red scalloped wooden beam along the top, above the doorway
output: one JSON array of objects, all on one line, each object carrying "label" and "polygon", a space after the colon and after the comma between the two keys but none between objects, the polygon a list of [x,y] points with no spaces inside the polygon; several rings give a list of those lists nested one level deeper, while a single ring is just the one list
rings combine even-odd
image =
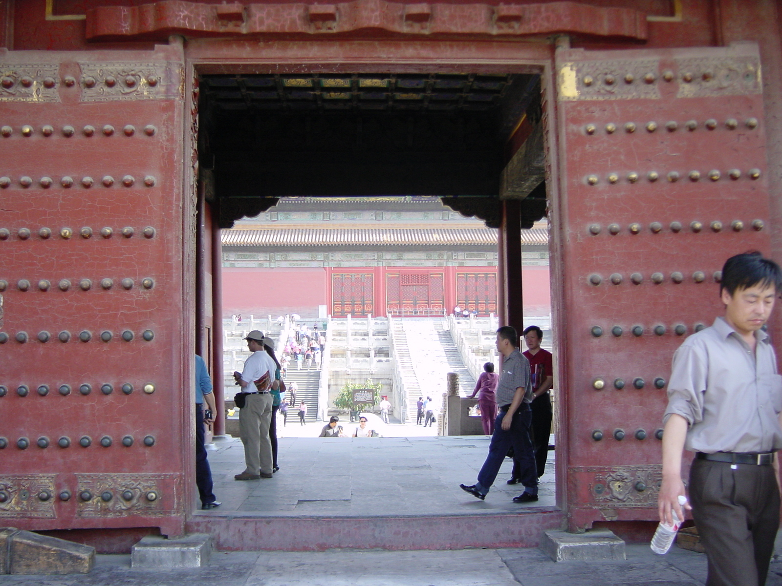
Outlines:
[{"label": "long red scalloped wooden beam along the top, above the doorway", "polygon": [[387,34],[468,38],[546,37],[647,39],[647,14],[632,8],[605,8],[582,2],[537,4],[421,4],[354,0],[335,4],[202,4],[151,2],[100,6],[87,11],[90,41],[145,39],[170,34],[194,37],[267,35]]}]

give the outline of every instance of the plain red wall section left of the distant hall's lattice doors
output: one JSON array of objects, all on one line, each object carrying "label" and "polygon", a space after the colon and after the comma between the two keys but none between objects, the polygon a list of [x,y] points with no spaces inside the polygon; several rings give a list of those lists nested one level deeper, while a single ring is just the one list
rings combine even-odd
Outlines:
[{"label": "plain red wall section left of the distant hall's lattice doors", "polygon": [[317,306],[326,304],[326,270],[317,267],[224,268],[222,281],[223,316],[317,317]]}]

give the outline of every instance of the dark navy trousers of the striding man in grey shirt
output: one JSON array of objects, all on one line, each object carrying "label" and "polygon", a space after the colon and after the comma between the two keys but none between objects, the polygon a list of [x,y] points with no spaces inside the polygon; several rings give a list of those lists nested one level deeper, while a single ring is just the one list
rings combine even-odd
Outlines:
[{"label": "dark navy trousers of the striding man in grey shirt", "polygon": [[518,411],[513,416],[511,428],[505,431],[502,428],[502,420],[505,412],[497,410],[497,418],[494,420],[494,433],[489,445],[489,456],[486,456],[486,462],[483,463],[481,471],[478,473],[478,484],[476,488],[484,495],[489,492],[489,488],[494,484],[497,473],[500,472],[500,466],[505,456],[508,456],[508,449],[513,446],[515,454],[514,459],[518,460],[521,466],[521,475],[519,479],[524,485],[524,491],[530,495],[537,494],[537,470],[535,466],[535,453],[533,451],[533,442],[529,439],[529,426],[532,423],[532,411],[529,405],[522,406],[522,411]]}]

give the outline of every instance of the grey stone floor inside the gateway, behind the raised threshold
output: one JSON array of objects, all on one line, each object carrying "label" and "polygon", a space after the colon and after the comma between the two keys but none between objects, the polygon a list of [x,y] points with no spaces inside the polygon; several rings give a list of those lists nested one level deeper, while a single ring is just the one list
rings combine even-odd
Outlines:
[{"label": "grey stone floor inside the gateway, behind the raised threshold", "polygon": [[209,452],[219,509],[198,515],[257,516],[474,515],[551,508],[554,453],[540,485],[540,500],[518,505],[523,491],[508,486],[505,459],[485,501],[461,491],[473,484],[488,452],[486,436],[391,438],[280,438],[280,470],[271,479],[235,481],[244,470],[239,438],[217,438]]}]

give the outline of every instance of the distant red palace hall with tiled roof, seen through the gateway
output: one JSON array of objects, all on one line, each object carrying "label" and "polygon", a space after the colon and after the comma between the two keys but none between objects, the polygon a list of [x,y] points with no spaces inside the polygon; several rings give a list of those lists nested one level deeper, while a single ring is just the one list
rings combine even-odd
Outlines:
[{"label": "distant red palace hall with tiled roof, seen through the gateway", "polygon": [[[284,198],[222,243],[224,316],[497,314],[497,230],[439,198]],[[522,230],[522,287],[548,316],[545,222]]]}]

